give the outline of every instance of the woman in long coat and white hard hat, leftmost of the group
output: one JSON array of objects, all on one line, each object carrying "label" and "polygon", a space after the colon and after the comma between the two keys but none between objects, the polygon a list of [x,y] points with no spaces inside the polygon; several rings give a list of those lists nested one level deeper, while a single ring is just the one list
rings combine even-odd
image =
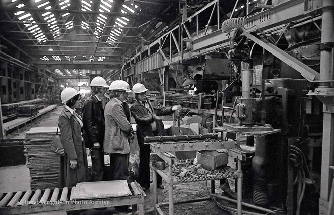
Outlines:
[{"label": "woman in long coat and white hard hat, leftmost of the group", "polygon": [[59,187],[73,187],[77,183],[88,181],[88,165],[85,144],[82,141],[82,119],[75,112],[81,106],[81,95],[74,88],[68,87],[61,92],[65,104],[59,116],[61,142],[65,156],[60,158]]}]

